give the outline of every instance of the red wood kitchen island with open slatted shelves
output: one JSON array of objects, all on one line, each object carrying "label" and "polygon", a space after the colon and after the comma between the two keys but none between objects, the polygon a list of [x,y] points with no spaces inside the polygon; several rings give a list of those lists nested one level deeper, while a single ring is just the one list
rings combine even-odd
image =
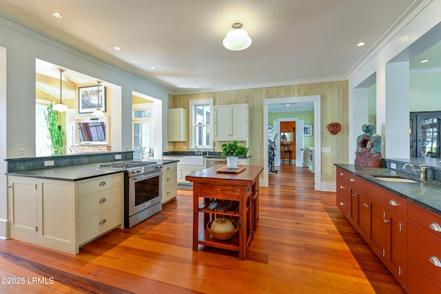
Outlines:
[{"label": "red wood kitchen island with open slatted shelves", "polygon": [[[222,165],[216,165],[220,169]],[[185,177],[193,182],[193,250],[198,245],[238,251],[239,259],[245,260],[247,246],[251,243],[258,219],[259,176],[263,166],[247,165],[239,173],[218,172],[214,167],[203,169]],[[238,210],[199,208],[199,198],[206,202],[238,202]],[[203,227],[199,228],[199,216],[203,216]],[[215,218],[238,220],[238,233],[230,240],[216,240],[207,230],[207,223]]]}]

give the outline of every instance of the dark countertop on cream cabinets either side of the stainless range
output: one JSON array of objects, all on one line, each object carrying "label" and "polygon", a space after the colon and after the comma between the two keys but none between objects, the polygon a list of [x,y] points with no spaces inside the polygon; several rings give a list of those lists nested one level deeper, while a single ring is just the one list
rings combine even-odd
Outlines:
[{"label": "dark countertop on cream cabinets either side of the stainless range", "polygon": [[[178,160],[161,160],[161,159],[153,159],[153,160],[158,162],[159,164],[178,162]],[[127,160],[123,160],[123,161],[127,161]],[[46,178],[50,180],[68,180],[68,181],[85,180],[88,178],[95,178],[98,176],[106,176],[110,174],[117,174],[123,172],[119,169],[105,169],[103,167],[99,167],[99,165],[103,165],[105,163],[114,163],[114,162],[118,162],[118,161],[91,163],[88,165],[72,165],[68,167],[31,169],[28,171],[15,171],[11,173],[6,173],[6,175],[24,176],[30,178]]]}]

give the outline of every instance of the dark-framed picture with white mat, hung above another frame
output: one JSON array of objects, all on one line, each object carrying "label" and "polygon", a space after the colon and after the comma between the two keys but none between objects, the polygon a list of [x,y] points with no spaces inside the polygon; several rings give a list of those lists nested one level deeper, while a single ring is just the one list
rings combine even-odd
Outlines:
[{"label": "dark-framed picture with white mat, hung above another frame", "polygon": [[80,114],[94,112],[97,108],[105,112],[105,87],[99,87],[99,96],[98,86],[79,87],[78,101]]}]

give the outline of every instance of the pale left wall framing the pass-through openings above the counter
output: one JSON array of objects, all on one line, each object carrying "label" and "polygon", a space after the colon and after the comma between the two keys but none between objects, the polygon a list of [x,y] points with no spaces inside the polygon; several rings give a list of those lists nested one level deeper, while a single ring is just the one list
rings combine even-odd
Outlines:
[{"label": "pale left wall framing the pass-through openings above the counter", "polygon": [[[112,146],[112,151],[132,149],[132,92],[158,98],[168,105],[170,90],[2,17],[0,46],[6,48],[0,50],[0,238],[5,238],[8,201],[3,160],[18,158],[19,149],[25,149],[25,157],[35,156],[35,59],[121,87],[121,92],[112,92],[112,145],[119,145]],[[163,125],[167,126],[167,112],[163,114]]]}]

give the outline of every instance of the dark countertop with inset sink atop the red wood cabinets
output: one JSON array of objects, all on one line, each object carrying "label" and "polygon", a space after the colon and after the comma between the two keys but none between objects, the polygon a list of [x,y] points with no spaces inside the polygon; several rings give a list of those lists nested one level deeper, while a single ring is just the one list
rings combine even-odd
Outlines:
[{"label": "dark countertop with inset sink atop the red wood cabinets", "polygon": [[[422,182],[418,176],[413,176],[394,169],[359,167],[356,165],[338,163],[334,165],[441,215],[441,182],[435,180]],[[378,180],[373,176],[402,176],[418,182],[388,182]]]}]

